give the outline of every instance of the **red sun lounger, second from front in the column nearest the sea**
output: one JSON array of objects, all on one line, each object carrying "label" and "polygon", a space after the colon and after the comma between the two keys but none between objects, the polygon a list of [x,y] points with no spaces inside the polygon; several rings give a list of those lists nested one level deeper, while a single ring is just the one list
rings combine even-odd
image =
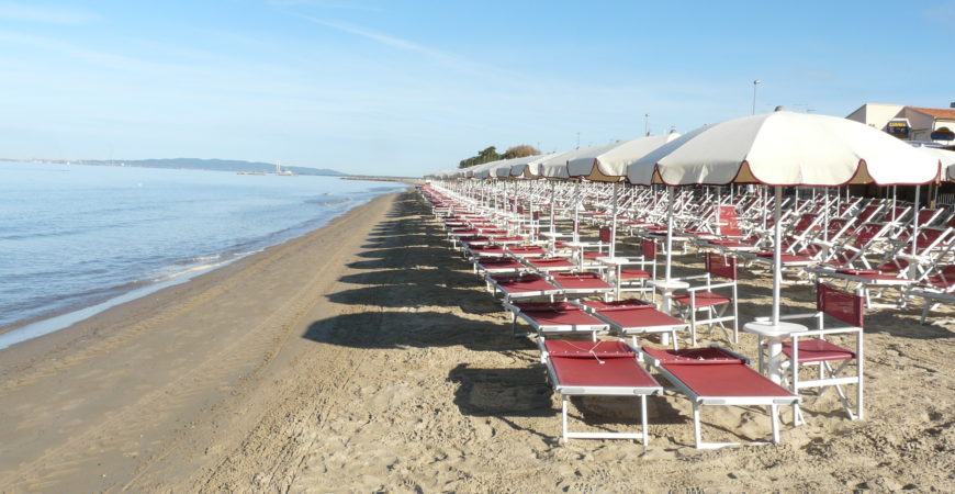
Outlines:
[{"label": "red sun lounger, second from front in the column nearest the sea", "polygon": [[530,324],[538,335],[591,333],[596,340],[597,333],[609,329],[607,323],[587,314],[580,305],[568,302],[504,303],[504,308],[510,312],[512,333],[518,317]]}]

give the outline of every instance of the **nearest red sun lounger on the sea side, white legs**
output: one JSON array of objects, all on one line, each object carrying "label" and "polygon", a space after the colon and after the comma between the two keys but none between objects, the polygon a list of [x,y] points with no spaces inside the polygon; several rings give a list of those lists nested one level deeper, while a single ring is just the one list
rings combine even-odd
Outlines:
[{"label": "nearest red sun lounger on the sea side, white legs", "polygon": [[[551,384],[561,395],[562,440],[639,439],[645,447],[647,395],[663,388],[637,360],[637,352],[622,341],[538,341]],[[568,428],[570,396],[640,396],[640,433],[572,433]]]}]

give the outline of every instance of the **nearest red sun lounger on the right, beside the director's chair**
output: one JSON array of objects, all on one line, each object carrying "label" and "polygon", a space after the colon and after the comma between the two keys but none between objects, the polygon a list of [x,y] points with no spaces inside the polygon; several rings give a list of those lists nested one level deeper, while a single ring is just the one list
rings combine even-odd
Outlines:
[{"label": "nearest red sun lounger on the right, beside the director's chair", "polygon": [[653,366],[693,403],[694,439],[697,449],[739,445],[704,442],[699,425],[700,406],[767,406],[773,423],[773,442],[779,442],[777,408],[779,405],[795,406],[800,401],[799,396],[750,369],[745,357],[724,348],[664,350],[643,347],[641,360]]}]

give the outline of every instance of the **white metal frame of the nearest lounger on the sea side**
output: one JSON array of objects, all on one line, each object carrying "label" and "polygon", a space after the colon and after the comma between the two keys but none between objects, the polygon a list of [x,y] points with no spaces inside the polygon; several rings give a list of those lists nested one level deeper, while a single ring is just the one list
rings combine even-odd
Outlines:
[{"label": "white metal frame of the nearest lounger on the sea side", "polygon": [[[625,344],[626,345],[626,344]],[[557,377],[557,371],[553,368],[553,362],[548,355],[544,339],[538,339],[538,347],[541,351],[541,360],[547,364],[547,373],[550,382],[553,385],[554,392],[561,395],[561,441],[566,444],[569,439],[633,439],[640,440],[645,448],[650,442],[650,435],[647,433],[647,396],[651,394],[663,394],[663,386],[656,385],[651,388],[634,388],[634,386],[565,386],[560,383]],[[627,346],[634,352],[634,361],[638,362],[640,351],[634,350],[629,345]],[[654,380],[655,381],[655,380]],[[568,426],[568,401],[571,396],[640,396],[640,433],[574,433]]]}]

